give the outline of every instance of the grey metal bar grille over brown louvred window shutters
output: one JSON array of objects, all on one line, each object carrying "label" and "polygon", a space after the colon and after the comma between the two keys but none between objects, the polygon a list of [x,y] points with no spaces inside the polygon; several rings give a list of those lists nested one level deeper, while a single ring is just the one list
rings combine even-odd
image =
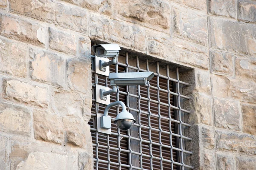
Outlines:
[{"label": "grey metal bar grille over brown louvred window shutters", "polygon": [[[133,114],[137,123],[127,132],[120,131],[113,121],[119,113],[119,106],[112,107],[111,135],[97,132],[96,113],[103,113],[105,105],[96,102],[95,84],[109,86],[108,77],[95,73],[92,61],[93,107],[90,119],[93,140],[94,169],[96,170],[176,170],[192,166],[184,163],[186,154],[184,142],[191,141],[184,136],[183,129],[190,127],[183,122],[183,113],[190,113],[182,108],[182,99],[189,99],[180,94],[182,85],[189,85],[179,80],[176,73],[160,68],[159,62],[149,64],[148,59],[141,62],[139,57],[131,59],[126,53],[119,56],[116,65],[110,66],[110,72],[145,72],[154,71],[154,77],[145,86],[118,87],[118,92],[111,95],[111,102],[122,101]],[[153,70],[152,70],[153,68]]]}]

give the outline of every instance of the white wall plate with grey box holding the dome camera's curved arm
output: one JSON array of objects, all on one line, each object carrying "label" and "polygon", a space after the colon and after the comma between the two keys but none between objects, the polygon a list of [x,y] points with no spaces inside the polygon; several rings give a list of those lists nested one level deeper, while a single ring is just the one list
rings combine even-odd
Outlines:
[{"label": "white wall plate with grey box holding the dome camera's curved arm", "polygon": [[[103,125],[103,121],[101,121],[101,119],[105,119],[107,121],[105,122],[105,125]],[[103,116],[103,114],[97,113],[97,131],[111,135],[111,117],[110,116]]]}]

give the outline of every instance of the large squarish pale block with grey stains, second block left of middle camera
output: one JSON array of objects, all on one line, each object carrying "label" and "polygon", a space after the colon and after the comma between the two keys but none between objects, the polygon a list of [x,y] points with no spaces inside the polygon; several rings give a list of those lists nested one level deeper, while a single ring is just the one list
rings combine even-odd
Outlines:
[{"label": "large squarish pale block with grey stains, second block left of middle camera", "polygon": [[33,80],[65,87],[66,62],[62,57],[37,48],[29,48],[29,57],[29,74]]}]

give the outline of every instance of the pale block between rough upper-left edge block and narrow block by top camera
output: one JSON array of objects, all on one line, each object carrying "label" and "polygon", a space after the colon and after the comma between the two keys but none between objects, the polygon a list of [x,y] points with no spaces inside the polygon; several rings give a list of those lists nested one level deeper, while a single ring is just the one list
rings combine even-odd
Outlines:
[{"label": "pale block between rough upper-left edge block and narrow block by top camera", "polygon": [[55,28],[49,28],[49,48],[76,55],[76,36]]}]

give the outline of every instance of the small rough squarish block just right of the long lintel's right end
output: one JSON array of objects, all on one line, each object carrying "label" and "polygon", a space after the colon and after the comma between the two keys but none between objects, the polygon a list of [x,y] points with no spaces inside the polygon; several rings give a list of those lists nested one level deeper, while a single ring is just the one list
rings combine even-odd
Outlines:
[{"label": "small rough squarish block just right of the long lintel's right end", "polygon": [[210,50],[212,72],[233,76],[235,56],[230,53]]}]

